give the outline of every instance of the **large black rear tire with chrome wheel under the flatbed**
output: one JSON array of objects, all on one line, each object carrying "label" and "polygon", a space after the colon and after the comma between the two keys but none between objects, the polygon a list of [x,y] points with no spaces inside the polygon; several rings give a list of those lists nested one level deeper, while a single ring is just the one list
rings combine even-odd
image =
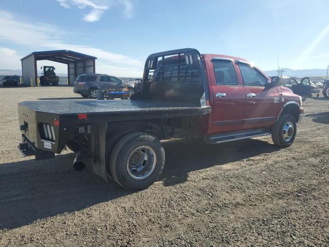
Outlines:
[{"label": "large black rear tire with chrome wheel under the flatbed", "polygon": [[164,165],[165,150],[159,140],[142,132],[123,136],[114,146],[109,159],[113,179],[128,190],[150,187],[159,178]]}]

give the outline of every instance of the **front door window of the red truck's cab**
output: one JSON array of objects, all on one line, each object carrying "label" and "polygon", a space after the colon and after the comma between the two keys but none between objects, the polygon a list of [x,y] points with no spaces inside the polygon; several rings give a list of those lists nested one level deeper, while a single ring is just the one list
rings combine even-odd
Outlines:
[{"label": "front door window of the red truck's cab", "polygon": [[239,63],[245,86],[265,86],[267,79],[254,67],[249,64]]}]

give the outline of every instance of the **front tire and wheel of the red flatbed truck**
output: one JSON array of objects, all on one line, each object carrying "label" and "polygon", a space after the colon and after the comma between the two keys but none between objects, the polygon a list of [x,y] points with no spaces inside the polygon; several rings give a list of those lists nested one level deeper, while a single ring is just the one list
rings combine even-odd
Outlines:
[{"label": "front tire and wheel of the red flatbed truck", "polygon": [[297,125],[296,119],[293,115],[282,114],[280,115],[275,126],[272,127],[272,140],[278,147],[289,147],[294,143]]}]

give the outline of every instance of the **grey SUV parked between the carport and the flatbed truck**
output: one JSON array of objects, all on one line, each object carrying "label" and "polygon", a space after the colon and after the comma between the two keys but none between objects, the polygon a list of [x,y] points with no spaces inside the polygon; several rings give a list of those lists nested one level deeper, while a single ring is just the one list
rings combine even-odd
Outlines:
[{"label": "grey SUV parked between the carport and the flatbed truck", "polygon": [[126,85],[123,80],[104,74],[82,74],[74,82],[73,92],[81,94],[82,97],[96,99],[97,90],[123,92]]}]

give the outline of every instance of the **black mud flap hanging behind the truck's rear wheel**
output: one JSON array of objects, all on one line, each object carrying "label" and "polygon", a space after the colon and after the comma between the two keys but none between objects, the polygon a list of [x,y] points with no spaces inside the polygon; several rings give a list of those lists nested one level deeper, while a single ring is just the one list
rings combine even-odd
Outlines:
[{"label": "black mud flap hanging behind the truck's rear wheel", "polygon": [[105,144],[107,123],[97,123],[92,127],[92,167],[93,173],[99,175],[107,182]]}]

